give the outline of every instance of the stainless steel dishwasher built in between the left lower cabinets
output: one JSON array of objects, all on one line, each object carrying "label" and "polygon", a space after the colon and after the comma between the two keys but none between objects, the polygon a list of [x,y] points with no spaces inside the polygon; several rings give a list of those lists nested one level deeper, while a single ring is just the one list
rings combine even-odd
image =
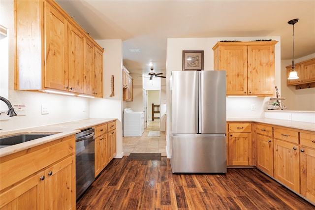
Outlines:
[{"label": "stainless steel dishwasher built in between the left lower cabinets", "polygon": [[76,199],[95,180],[94,128],[81,130],[75,136]]}]

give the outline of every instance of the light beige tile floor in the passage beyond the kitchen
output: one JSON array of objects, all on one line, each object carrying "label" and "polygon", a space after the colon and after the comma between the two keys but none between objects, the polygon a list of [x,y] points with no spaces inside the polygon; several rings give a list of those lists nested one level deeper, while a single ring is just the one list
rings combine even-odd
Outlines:
[{"label": "light beige tile floor in the passage beyond the kitchen", "polygon": [[161,153],[166,156],[165,132],[159,132],[159,137],[148,137],[150,131],[159,131],[159,121],[150,121],[141,137],[123,137],[124,155],[130,153]]}]

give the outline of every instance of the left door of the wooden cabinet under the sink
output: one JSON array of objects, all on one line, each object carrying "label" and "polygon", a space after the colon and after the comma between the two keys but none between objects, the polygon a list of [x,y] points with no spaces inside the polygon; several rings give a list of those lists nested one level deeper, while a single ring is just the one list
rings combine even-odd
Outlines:
[{"label": "left door of the wooden cabinet under the sink", "polygon": [[43,210],[45,209],[44,180],[40,178],[44,172],[39,172],[29,179],[13,186],[0,194],[1,210]]}]

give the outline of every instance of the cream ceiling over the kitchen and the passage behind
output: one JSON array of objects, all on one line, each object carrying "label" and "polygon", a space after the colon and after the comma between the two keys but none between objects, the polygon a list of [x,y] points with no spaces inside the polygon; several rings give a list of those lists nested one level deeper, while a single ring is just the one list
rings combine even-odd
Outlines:
[{"label": "cream ceiling over the kitchen and the passage behind", "polygon": [[[131,73],[166,72],[167,38],[281,36],[281,59],[315,53],[315,0],[56,0],[94,39],[122,39]],[[140,53],[130,53],[140,49]],[[106,50],[106,49],[105,49]]]}]

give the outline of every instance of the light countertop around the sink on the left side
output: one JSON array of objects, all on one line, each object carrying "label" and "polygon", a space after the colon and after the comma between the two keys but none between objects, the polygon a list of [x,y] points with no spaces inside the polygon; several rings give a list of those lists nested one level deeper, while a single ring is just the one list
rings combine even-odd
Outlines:
[{"label": "light countertop around the sink on the left side", "polygon": [[105,122],[117,120],[116,118],[110,119],[85,119],[85,120],[74,120],[69,122],[63,122],[58,124],[44,125],[38,127],[31,127],[19,130],[12,131],[0,131],[0,137],[11,136],[15,134],[24,134],[24,133],[56,133],[54,135],[42,137],[39,139],[34,139],[32,141],[23,142],[20,144],[12,145],[9,147],[0,149],[0,157],[22,151],[27,150],[29,148],[42,145],[72,134],[79,133],[80,130],[85,128],[93,127],[98,124],[102,124]]}]

